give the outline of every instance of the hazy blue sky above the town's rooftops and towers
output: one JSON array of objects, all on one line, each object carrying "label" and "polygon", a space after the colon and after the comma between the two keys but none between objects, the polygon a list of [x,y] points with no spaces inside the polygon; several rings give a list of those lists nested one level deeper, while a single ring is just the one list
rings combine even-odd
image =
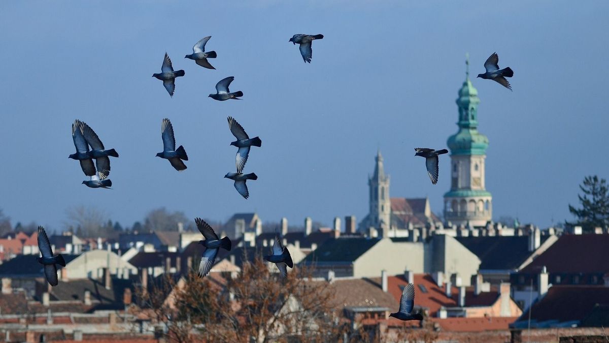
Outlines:
[{"label": "hazy blue sky above the town's rooftops and towers", "polygon": [[[0,208],[51,229],[80,204],[124,226],[160,206],[361,220],[380,148],[390,195],[441,212],[449,158],[433,186],[413,148],[446,147],[465,52],[475,76],[496,51],[514,91],[473,79],[493,217],[571,219],[584,176],[609,178],[608,13],[607,1],[1,1]],[[325,35],[310,65],[288,42],[297,33]],[[206,35],[217,70],[183,58]],[[151,78],[166,51],[186,71],[174,98]],[[227,76],[242,101],[207,97]],[[223,178],[235,168],[228,115],[262,139],[249,200]],[[155,157],[165,117],[190,158],[182,173]],[[82,185],[68,159],[76,118],[119,152],[113,190]]]}]

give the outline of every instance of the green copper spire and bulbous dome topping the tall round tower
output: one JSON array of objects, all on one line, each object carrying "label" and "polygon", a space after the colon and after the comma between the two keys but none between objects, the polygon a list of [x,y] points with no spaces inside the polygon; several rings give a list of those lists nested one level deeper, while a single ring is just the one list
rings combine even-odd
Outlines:
[{"label": "green copper spire and bulbous dome topping the tall round tower", "polygon": [[448,139],[451,154],[484,155],[488,147],[487,136],[477,131],[478,127],[478,91],[470,81],[470,59],[465,55],[465,81],[459,90],[456,100],[459,106],[459,132]]}]

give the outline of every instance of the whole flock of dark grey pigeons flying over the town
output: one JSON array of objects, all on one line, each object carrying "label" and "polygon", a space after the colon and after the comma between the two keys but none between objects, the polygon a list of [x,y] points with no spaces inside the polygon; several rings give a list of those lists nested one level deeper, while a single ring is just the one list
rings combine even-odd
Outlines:
[{"label": "whole flock of dark grey pigeons flying over the town", "polygon": [[[211,36],[202,38],[192,47],[192,54],[186,55],[185,58],[194,60],[197,65],[208,69],[214,68],[208,61],[208,59],[214,59],[217,57],[216,51],[205,52],[205,45],[209,41]],[[322,39],[323,35],[304,35],[297,34],[290,38],[289,42],[300,45],[300,54],[303,60],[311,63],[312,49],[311,43],[313,40]],[[512,90],[512,86],[505,78],[511,78],[514,74],[511,68],[499,69],[499,56],[493,53],[488,57],[484,63],[486,72],[478,74],[478,78],[490,79],[498,82],[504,87]],[[174,71],[171,64],[171,59],[167,53],[163,59],[163,65],[161,66],[161,73],[155,73],[152,76],[154,78],[163,81],[163,86],[167,90],[170,96],[174,96],[175,91],[175,78],[184,76],[184,70]],[[216,93],[209,94],[209,98],[225,101],[228,99],[238,100],[243,96],[243,92],[230,92],[228,89],[234,77],[229,76],[220,80],[216,84]],[[245,199],[249,197],[247,189],[247,180],[256,180],[258,176],[255,173],[244,174],[242,173],[247,158],[250,153],[252,146],[261,146],[262,141],[259,137],[250,139],[250,136],[245,132],[243,127],[234,120],[233,117],[228,117],[228,127],[231,133],[237,139],[231,142],[230,145],[234,145],[238,148],[235,165],[236,172],[230,172],[225,175],[225,178],[232,179],[234,181],[234,187]],[[161,121],[161,138],[163,139],[163,152],[158,153],[157,157],[169,160],[172,167],[177,171],[183,171],[186,169],[186,165],[183,161],[188,161],[188,155],[183,146],[175,148],[175,137],[174,128],[171,125],[171,121],[165,118]],[[76,146],[76,153],[71,154],[69,158],[78,160],[80,167],[86,176],[90,176],[90,180],[83,181],[82,183],[91,188],[109,188],[112,186],[112,182],[108,179],[110,175],[110,159],[109,156],[118,157],[118,153],[114,149],[105,150],[104,143],[99,139],[97,134],[91,129],[90,126],[86,125],[83,121],[76,120],[72,124],[72,139],[74,140],[74,146]],[[91,146],[91,149],[89,149]],[[415,148],[415,156],[421,156],[425,158],[425,166],[428,171],[429,179],[432,184],[438,182],[438,156],[441,154],[448,153],[448,150],[434,150],[430,148]],[[93,159],[95,164],[93,164]],[[228,237],[220,239],[214,232],[214,229],[209,226],[201,218],[195,218],[197,228],[200,233],[205,237],[205,240],[200,240],[199,244],[205,247],[200,264],[199,264],[199,275],[205,276],[209,273],[218,251],[220,248],[225,250],[231,250],[231,241]],[[42,255],[38,258],[38,262],[44,265],[44,274],[46,279],[51,286],[57,286],[57,264],[65,266],[65,260],[62,255],[54,256],[51,243],[49,238],[46,236],[44,228],[38,227],[38,247]],[[279,234],[275,236],[275,242],[272,247],[272,254],[264,256],[266,261],[275,263],[277,268],[280,270],[281,275],[287,276],[287,267],[293,268],[294,263],[290,256],[287,247],[281,244],[281,237]],[[390,317],[395,317],[400,320],[422,320],[423,316],[420,313],[413,313],[414,308],[414,285],[409,283],[404,287],[404,291],[400,298],[400,309],[398,312],[390,314]]]}]

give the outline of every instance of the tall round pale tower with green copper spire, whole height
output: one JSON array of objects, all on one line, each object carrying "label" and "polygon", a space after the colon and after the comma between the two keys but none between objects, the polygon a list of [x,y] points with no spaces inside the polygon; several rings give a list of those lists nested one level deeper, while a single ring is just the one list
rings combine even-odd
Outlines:
[{"label": "tall round pale tower with green copper spire, whole height", "polygon": [[485,226],[492,217],[492,197],[485,188],[487,136],[478,132],[478,91],[470,81],[466,60],[465,82],[459,90],[459,131],[448,139],[451,152],[451,190],[444,195],[446,222],[457,226]]}]

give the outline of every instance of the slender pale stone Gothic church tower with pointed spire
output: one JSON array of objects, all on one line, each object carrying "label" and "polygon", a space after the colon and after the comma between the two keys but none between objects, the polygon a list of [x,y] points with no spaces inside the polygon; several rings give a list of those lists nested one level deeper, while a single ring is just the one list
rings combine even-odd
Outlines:
[{"label": "slender pale stone Gothic church tower with pointed spire", "polygon": [[375,173],[368,177],[370,211],[368,225],[377,229],[390,228],[391,200],[389,199],[389,175],[385,175],[381,150],[376,153]]}]

